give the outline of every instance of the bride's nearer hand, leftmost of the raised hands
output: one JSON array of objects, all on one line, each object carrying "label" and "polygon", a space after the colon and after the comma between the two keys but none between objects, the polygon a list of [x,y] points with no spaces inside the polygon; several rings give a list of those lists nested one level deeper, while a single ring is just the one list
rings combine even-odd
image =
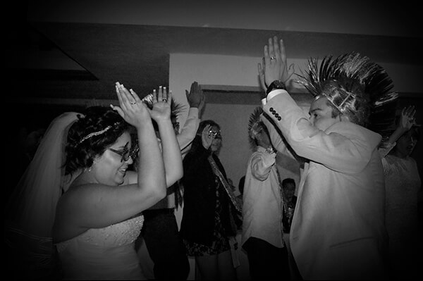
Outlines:
[{"label": "bride's nearer hand, leftmost of the raised hands", "polygon": [[116,82],[115,87],[120,106],[111,105],[111,108],[118,111],[126,122],[135,127],[140,127],[146,120],[151,120],[149,109],[132,89],[128,91],[119,82]]}]

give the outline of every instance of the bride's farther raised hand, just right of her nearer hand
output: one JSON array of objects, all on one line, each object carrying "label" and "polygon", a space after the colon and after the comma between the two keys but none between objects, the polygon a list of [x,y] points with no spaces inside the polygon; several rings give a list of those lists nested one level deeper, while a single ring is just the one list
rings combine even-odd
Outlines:
[{"label": "bride's farther raised hand, just right of her nearer hand", "polygon": [[171,101],[172,92],[167,92],[166,87],[159,86],[159,91],[153,89],[153,108],[149,111],[153,120],[159,122],[171,119]]}]

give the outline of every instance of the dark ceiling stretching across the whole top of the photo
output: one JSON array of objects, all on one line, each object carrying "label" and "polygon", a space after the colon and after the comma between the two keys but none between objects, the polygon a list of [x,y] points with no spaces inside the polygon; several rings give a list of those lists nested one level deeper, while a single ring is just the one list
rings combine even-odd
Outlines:
[{"label": "dark ceiling stretching across the whole top of the photo", "polygon": [[[301,1],[286,6],[278,1],[273,10],[262,11],[264,2],[245,8],[216,1],[207,11],[198,1],[184,2],[185,9],[175,2],[164,9],[159,2],[13,1],[15,6],[7,9],[13,16],[5,33],[6,80],[18,86],[18,94],[8,95],[7,101],[80,104],[115,99],[116,81],[147,94],[168,84],[170,54],[259,58],[273,35],[284,39],[289,58],[359,51],[379,63],[423,65],[423,36],[414,24],[418,19],[392,4],[366,4],[363,10],[359,2],[342,6],[337,1]],[[333,7],[338,10],[329,10]],[[287,20],[280,16],[281,8]],[[312,18],[314,11],[316,22],[304,20],[303,15]],[[343,32],[348,30],[343,18],[353,32]],[[183,21],[187,19],[192,21]],[[292,31],[295,27],[312,31]]]}]

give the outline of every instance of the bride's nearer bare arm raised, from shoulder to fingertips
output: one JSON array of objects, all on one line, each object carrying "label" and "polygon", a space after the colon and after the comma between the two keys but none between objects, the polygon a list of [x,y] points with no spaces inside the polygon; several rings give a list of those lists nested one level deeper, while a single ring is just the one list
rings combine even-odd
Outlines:
[{"label": "bride's nearer bare arm raised, from shoulder to fingertips", "polygon": [[[59,241],[88,228],[106,227],[127,220],[166,196],[164,162],[147,107],[136,94],[131,95],[118,83],[116,93],[119,106],[111,108],[137,130],[141,167],[137,169],[137,180],[130,182],[125,175],[123,184],[116,186],[90,180],[87,176],[81,180],[77,178],[75,182],[79,182],[61,196],[56,208],[54,237]],[[130,160],[125,162],[130,163]]]}]

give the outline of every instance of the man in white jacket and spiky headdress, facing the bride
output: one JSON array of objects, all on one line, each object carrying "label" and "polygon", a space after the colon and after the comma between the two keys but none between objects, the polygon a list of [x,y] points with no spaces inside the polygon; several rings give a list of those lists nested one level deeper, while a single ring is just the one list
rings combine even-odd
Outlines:
[{"label": "man in white jacket and spiky headdress, facing the bride", "polygon": [[[367,77],[354,79],[364,70],[370,76],[383,69],[358,54],[333,64],[329,58],[326,70],[344,76],[306,84],[316,90],[307,116],[284,87],[288,71],[282,40],[269,39],[263,63],[262,120],[269,130],[281,130],[295,153],[308,159],[290,230],[302,278],[386,279],[384,173],[377,151],[381,135],[362,126],[369,118],[362,87]],[[344,71],[347,63],[350,69]]]}]

